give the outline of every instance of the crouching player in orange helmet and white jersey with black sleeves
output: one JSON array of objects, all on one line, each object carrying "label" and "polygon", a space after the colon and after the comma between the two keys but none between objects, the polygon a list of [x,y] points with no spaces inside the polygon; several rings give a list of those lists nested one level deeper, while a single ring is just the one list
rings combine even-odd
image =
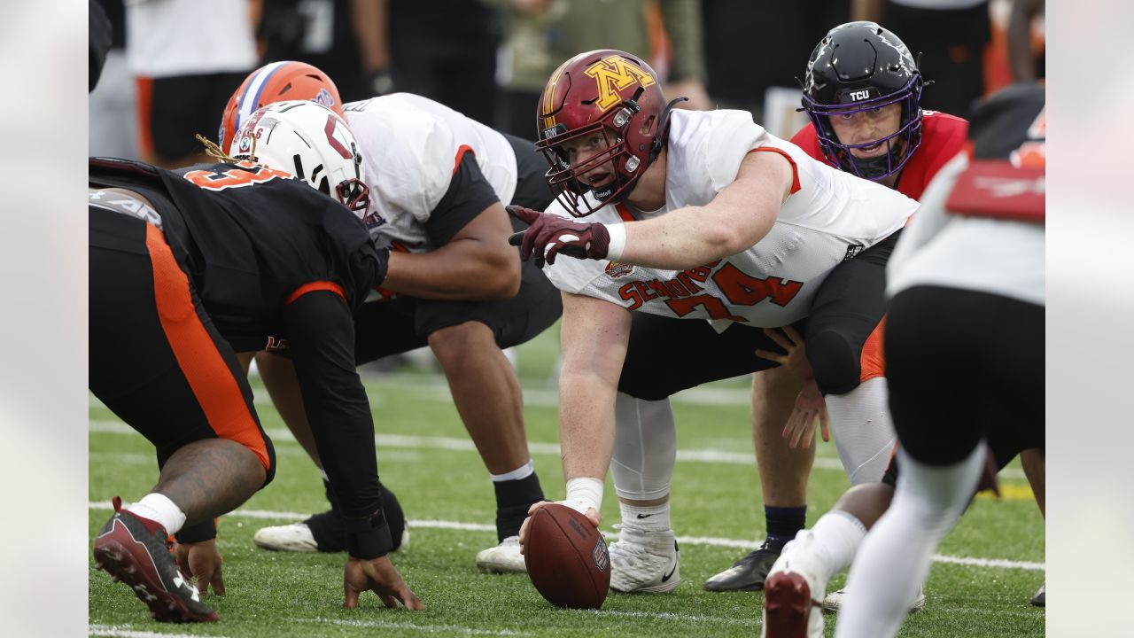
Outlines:
[{"label": "crouching player in orange helmet and white jersey with black sleeves", "polygon": [[[418,95],[340,104],[325,74],[290,61],[248,76],[225,111],[221,144],[260,104],[290,98],[344,111],[369,176],[367,227],[389,255],[381,299],[356,314],[356,362],[430,346],[496,492],[498,545],[480,552],[476,564],[523,572],[517,534],[543,492],[527,450],[519,381],[502,349],[542,333],[561,307],[539,268],[522,266],[500,241],[509,228],[523,228],[510,225],[501,202],[547,207],[545,165],[531,142]],[[319,464],[290,364],[271,354],[256,362],[284,420]],[[346,549],[337,498],[330,489],[327,495],[330,511],[261,529],[255,542],[272,549]]]}]

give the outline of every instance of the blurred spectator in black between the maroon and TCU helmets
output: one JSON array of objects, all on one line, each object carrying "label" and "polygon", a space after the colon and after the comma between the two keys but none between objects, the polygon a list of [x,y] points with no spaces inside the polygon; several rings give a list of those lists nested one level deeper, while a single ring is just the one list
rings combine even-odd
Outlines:
[{"label": "blurred spectator in black between the maroon and TCU helmets", "polygon": [[[814,43],[849,18],[845,0],[702,3],[704,32],[711,34],[704,43],[709,95],[719,108],[752,111],[756,123],[764,120],[764,98],[771,87],[787,90],[785,107],[795,112],[799,106],[796,78],[803,78]],[[786,133],[771,133],[786,138],[805,121],[801,115],[798,125],[787,126]]]}]

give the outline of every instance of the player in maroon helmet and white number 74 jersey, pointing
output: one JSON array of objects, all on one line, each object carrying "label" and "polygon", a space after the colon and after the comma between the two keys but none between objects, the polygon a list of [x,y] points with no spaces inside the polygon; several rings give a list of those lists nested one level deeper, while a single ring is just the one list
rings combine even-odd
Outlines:
[{"label": "player in maroon helmet and white number 74 jersey, pointing", "polygon": [[[567,503],[596,522],[610,467],[617,591],[669,591],[680,579],[668,397],[776,366],[754,354],[777,350],[763,327],[806,335],[816,373],[857,372],[846,344],[861,345],[881,317],[885,263],[916,205],[769,135],[746,111],[672,103],[633,56],[568,60],[538,117],[559,201],[547,213],[510,209],[532,223],[522,254],[551,263],[564,292]],[[596,224],[570,220],[592,213]]]}]

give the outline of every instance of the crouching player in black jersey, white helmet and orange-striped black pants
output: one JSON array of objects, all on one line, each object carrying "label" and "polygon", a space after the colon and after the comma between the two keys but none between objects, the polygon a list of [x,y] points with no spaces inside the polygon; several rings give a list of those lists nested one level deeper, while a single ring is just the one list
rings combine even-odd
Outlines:
[{"label": "crouching player in black jersey, white helmet and orange-striped black pants", "polygon": [[[218,163],[172,171],[91,159],[90,387],[154,444],[161,468],[137,503],[115,497],[95,565],[159,621],[218,620],[202,601],[210,585],[223,593],[213,519],[276,472],[247,364],[286,349],[349,530],[345,605],[372,589],[387,606],[424,608],[386,556],[373,422],[352,356],[352,310],[388,266],[363,224],[357,144],[341,118],[302,101],[256,111],[236,146],[240,159],[218,152]],[[167,549],[170,532],[197,587]]]}]

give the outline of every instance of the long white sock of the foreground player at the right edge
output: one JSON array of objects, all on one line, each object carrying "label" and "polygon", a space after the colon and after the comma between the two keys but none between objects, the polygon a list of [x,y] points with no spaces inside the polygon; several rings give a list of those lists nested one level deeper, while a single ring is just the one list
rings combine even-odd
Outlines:
[{"label": "long white sock of the foreground player at the right edge", "polygon": [[900,450],[898,456],[894,502],[850,566],[836,638],[888,638],[898,632],[909,596],[925,582],[933,552],[976,489],[984,446],[953,465],[921,463]]}]

